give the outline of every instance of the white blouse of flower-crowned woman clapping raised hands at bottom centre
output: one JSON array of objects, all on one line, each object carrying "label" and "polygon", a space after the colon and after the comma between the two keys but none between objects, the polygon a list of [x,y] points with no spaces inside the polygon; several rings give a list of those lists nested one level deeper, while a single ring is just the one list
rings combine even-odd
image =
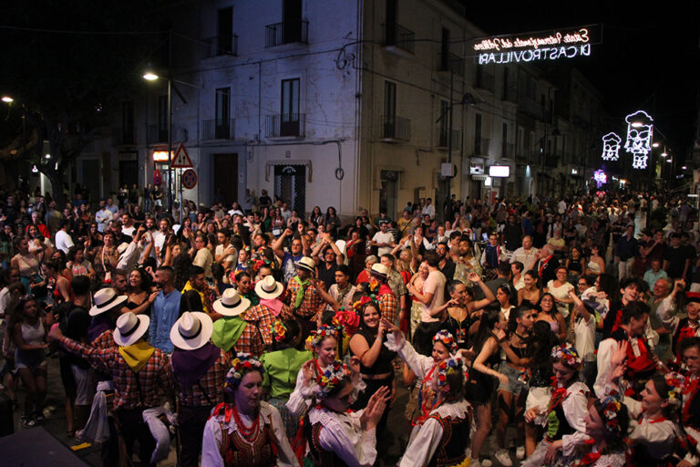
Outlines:
[{"label": "white blouse of flower-crowned woman clapping raised hands at bottom centre", "polygon": [[334,452],[350,467],[369,467],[376,462],[376,429],[362,428],[360,417],[363,411],[345,414],[314,407],[309,412],[312,426],[316,423],[323,426],[318,434],[321,447]]}]

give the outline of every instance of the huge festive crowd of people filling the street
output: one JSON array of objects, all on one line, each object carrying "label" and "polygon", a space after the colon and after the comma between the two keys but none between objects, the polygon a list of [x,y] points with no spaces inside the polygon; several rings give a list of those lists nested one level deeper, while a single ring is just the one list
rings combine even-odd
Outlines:
[{"label": "huge festive crowd of people filling the street", "polygon": [[427,199],[350,222],[265,192],[181,222],[129,190],[4,200],[3,391],[41,424],[57,356],[67,434],[106,465],[171,442],[185,466],[387,464],[377,440],[409,430],[401,466],[700,463],[684,199]]}]

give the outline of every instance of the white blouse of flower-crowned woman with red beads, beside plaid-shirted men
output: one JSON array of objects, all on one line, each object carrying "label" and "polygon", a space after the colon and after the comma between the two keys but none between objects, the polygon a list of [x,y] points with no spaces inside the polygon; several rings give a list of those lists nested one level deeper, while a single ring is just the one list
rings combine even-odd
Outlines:
[{"label": "white blouse of flower-crowned woman with red beads, beside plaid-shirted men", "polygon": [[[250,417],[244,413],[241,413],[240,416],[244,424],[252,425],[252,419]],[[272,425],[274,436],[279,443],[280,450],[277,453],[277,466],[299,467],[299,461],[297,461],[292,451],[292,446],[290,446],[289,440],[287,440],[287,434],[284,431],[284,424],[282,422],[282,417],[280,417],[280,412],[267,402],[261,401],[260,419],[261,424],[270,423]],[[236,425],[233,418],[229,421],[225,421],[223,415],[215,415],[207,420],[207,424],[204,426],[204,435],[201,440],[201,465],[206,465],[207,467],[224,467],[220,451],[223,434],[221,433],[221,423],[228,431],[228,434],[238,430],[238,425]]]}]

